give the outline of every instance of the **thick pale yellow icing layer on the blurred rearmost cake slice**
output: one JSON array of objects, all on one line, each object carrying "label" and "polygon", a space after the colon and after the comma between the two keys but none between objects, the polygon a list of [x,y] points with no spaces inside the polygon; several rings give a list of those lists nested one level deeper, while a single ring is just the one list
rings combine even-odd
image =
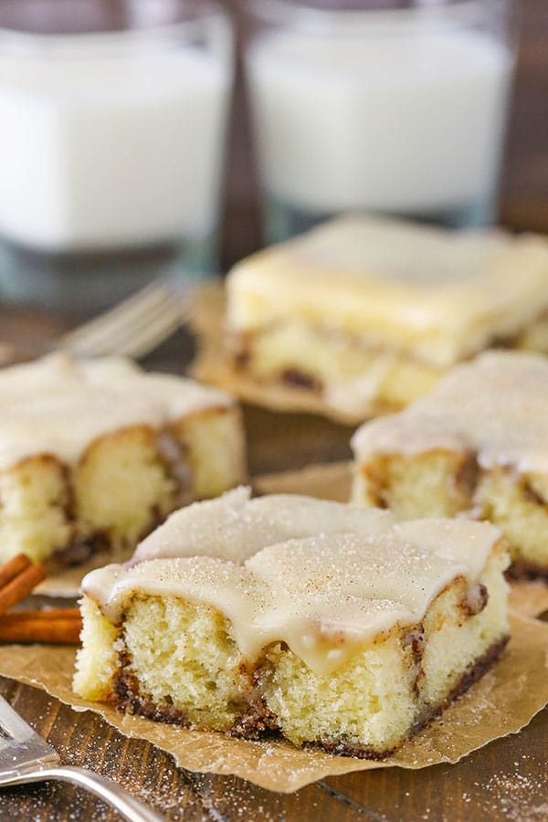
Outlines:
[{"label": "thick pale yellow icing layer on the blurred rearmost cake slice", "polygon": [[228,324],[341,329],[446,367],[531,321],[548,305],[547,286],[542,237],[348,216],[238,263]]}]

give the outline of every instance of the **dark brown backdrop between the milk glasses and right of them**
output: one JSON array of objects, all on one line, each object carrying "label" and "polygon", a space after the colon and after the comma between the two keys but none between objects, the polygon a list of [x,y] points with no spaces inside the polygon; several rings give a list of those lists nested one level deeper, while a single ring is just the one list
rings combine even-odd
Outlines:
[{"label": "dark brown backdrop between the milk glasses and right of them", "polygon": [[[222,0],[237,24],[238,59],[227,163],[223,264],[259,248],[258,177],[242,70],[246,18],[238,0]],[[366,5],[366,4],[365,4]],[[519,51],[502,164],[501,222],[548,232],[548,0],[519,0]]]}]

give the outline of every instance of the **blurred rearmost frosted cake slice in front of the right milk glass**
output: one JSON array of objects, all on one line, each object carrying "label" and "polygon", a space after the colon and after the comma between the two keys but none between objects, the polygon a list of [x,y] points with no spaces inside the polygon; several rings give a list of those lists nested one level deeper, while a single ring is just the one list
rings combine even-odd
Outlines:
[{"label": "blurred rearmost frosted cake slice in front of the right milk glass", "polygon": [[255,399],[361,422],[503,345],[548,353],[548,242],[347,216],[227,278],[227,351]]}]

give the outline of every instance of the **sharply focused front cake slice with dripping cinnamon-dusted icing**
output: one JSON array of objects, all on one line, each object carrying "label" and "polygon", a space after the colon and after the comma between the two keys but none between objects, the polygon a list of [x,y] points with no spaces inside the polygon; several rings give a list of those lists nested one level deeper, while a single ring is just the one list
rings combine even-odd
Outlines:
[{"label": "sharply focused front cake slice with dripping cinnamon-dusted icing", "polygon": [[74,688],[159,722],[382,757],[500,656],[507,564],[489,523],[232,491],[85,577]]}]

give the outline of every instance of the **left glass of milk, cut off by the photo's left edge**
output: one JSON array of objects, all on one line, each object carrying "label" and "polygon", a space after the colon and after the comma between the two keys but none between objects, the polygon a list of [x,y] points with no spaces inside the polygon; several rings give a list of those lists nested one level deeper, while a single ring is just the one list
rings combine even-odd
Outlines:
[{"label": "left glass of milk, cut off by the photo's left edge", "polygon": [[215,269],[231,80],[207,0],[0,0],[0,300]]}]

